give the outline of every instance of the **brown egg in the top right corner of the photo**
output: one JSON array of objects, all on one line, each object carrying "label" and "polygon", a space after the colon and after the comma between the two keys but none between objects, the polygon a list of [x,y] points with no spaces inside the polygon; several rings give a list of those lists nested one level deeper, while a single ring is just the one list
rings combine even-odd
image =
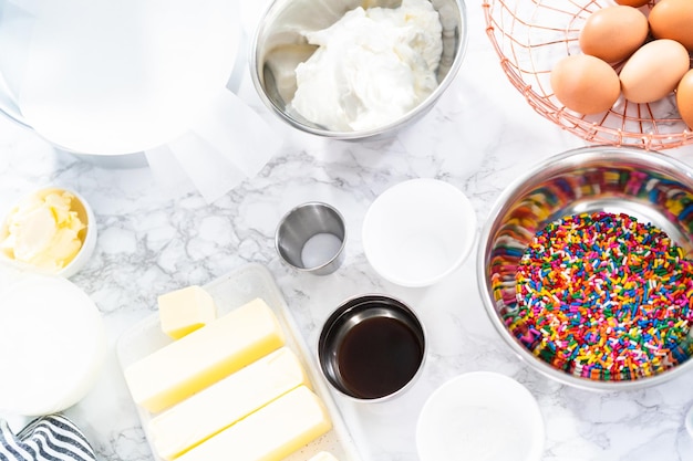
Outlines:
[{"label": "brown egg in the top right corner of the photo", "polygon": [[671,39],[693,51],[693,1],[661,0],[650,11],[650,29],[656,39]]}]

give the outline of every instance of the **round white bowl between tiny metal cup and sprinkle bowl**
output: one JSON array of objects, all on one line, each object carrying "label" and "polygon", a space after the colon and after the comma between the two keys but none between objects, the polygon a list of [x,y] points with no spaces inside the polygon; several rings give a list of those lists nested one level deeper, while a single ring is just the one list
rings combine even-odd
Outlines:
[{"label": "round white bowl between tiny metal cup and sprinkle bowl", "polygon": [[455,271],[476,238],[467,197],[437,179],[411,179],[380,195],[363,221],[363,250],[373,269],[402,286],[427,286]]}]

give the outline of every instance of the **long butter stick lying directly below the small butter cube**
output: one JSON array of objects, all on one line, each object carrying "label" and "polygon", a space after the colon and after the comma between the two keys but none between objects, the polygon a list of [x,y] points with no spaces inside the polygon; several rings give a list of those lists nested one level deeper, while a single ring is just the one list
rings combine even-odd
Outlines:
[{"label": "long butter stick lying directly below the small butter cube", "polygon": [[130,365],[135,404],[158,412],[285,344],[277,316],[256,298]]}]

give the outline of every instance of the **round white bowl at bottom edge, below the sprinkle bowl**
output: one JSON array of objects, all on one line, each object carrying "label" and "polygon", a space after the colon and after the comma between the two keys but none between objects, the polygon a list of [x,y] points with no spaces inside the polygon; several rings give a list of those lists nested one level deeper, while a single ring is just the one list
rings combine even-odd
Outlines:
[{"label": "round white bowl at bottom edge, below the sprinkle bowl", "polygon": [[437,388],[418,416],[421,461],[538,461],[545,428],[526,387],[492,371],[461,375]]}]

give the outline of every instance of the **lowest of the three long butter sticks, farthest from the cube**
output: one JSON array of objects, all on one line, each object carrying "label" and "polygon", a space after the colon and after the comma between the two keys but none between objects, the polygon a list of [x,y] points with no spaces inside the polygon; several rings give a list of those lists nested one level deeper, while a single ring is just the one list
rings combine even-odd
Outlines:
[{"label": "lowest of the three long butter sticks, farthest from the cube", "polygon": [[183,453],[177,461],[279,461],[328,432],[322,400],[299,386]]}]

